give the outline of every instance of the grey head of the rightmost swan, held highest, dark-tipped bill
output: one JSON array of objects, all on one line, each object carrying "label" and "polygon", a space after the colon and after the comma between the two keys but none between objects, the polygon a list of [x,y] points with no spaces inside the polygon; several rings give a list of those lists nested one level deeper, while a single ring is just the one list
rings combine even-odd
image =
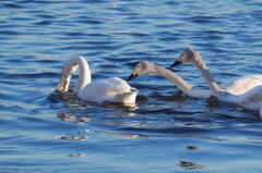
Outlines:
[{"label": "grey head of the rightmost swan, held highest, dark-tipped bill", "polygon": [[194,63],[195,58],[199,55],[198,51],[193,50],[193,49],[187,49],[184,50],[179,58],[177,59],[177,61],[175,61],[170,67],[174,66],[178,66],[182,63]]}]

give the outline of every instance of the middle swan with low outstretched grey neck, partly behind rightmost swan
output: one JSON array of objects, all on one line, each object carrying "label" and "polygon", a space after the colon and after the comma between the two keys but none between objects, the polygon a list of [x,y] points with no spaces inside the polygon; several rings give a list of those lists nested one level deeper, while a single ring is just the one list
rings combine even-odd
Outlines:
[{"label": "middle swan with low outstretched grey neck, partly behind rightmost swan", "polygon": [[[174,83],[179,90],[181,90],[184,95],[192,97],[192,98],[209,98],[211,96],[210,89],[201,89],[196,86],[193,86],[187,83],[183,78],[181,78],[176,73],[158,66],[148,61],[142,61],[135,65],[132,74],[128,78],[128,81],[133,79],[140,75],[144,74],[158,74],[171,83]],[[226,81],[222,84],[222,88],[229,91],[230,94],[242,94],[250,89],[250,85],[245,85],[245,83],[255,83],[254,85],[262,85],[262,75],[250,75],[245,77],[234,77],[231,79]],[[235,88],[242,87],[241,90],[237,90]]]}]

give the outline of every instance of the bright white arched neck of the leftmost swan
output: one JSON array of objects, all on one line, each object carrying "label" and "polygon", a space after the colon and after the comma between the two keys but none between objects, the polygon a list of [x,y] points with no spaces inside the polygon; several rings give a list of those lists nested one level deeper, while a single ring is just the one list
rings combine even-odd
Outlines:
[{"label": "bright white arched neck of the leftmost swan", "polygon": [[73,88],[73,91],[78,94],[86,84],[91,83],[91,72],[83,57],[75,58],[73,63],[78,64],[80,67],[79,79]]}]

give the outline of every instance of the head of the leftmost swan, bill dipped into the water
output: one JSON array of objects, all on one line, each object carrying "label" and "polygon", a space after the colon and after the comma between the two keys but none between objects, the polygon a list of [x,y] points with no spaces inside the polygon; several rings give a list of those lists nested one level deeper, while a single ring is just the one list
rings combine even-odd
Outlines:
[{"label": "head of the leftmost swan, bill dipped into the water", "polygon": [[69,85],[72,74],[76,71],[79,64],[72,63],[72,61],[66,61],[61,71],[61,79],[57,85],[57,90],[61,92],[69,91]]}]

